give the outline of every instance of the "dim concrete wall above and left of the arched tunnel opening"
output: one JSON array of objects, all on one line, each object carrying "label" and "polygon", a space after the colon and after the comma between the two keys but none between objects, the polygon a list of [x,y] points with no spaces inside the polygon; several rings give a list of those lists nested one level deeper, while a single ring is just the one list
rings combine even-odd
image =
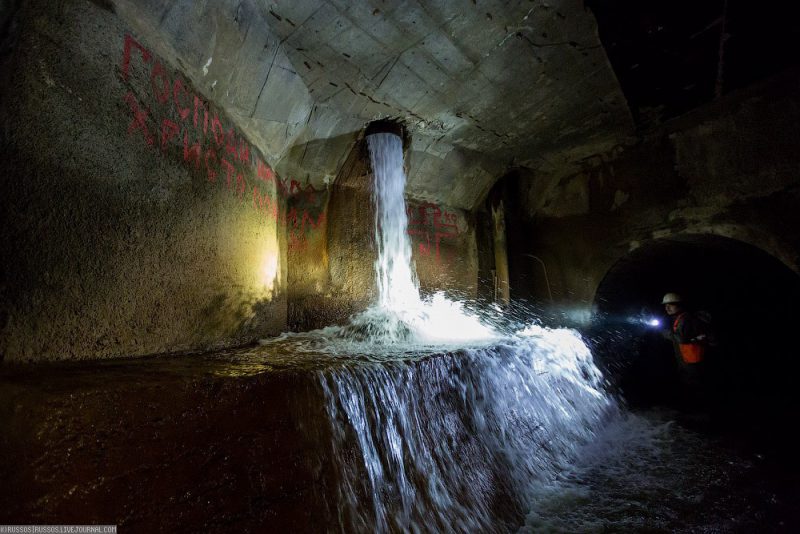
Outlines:
[{"label": "dim concrete wall above and left of the arched tunnel opening", "polygon": [[710,234],[800,272],[800,77],[787,72],[667,123],[561,179],[525,176],[506,199],[512,296],[586,306],[608,269],[658,239]]}]

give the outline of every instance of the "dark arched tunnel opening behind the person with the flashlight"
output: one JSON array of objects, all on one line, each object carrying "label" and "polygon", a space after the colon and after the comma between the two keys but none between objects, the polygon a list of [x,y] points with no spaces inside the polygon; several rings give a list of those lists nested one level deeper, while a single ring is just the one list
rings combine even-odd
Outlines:
[{"label": "dark arched tunnel opening behind the person with the flashlight", "polygon": [[[597,290],[597,357],[631,406],[686,408],[678,402],[672,343],[663,335],[671,327],[661,305],[667,292],[710,316],[716,343],[703,386],[709,410],[736,425],[778,426],[797,409],[800,277],[754,246],[713,235],[641,246]],[[652,319],[660,325],[648,324]]]}]

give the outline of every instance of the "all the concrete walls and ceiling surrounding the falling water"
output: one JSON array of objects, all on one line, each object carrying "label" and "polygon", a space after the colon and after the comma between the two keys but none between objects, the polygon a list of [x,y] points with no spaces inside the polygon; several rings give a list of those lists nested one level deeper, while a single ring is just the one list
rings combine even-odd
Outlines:
[{"label": "all the concrete walls and ceiling surrounding the falling water", "polygon": [[477,234],[501,176],[512,300],[587,309],[627,252],[684,234],[797,270],[796,69],[634,143],[577,2],[4,9],[6,361],[207,350],[346,320],[374,298],[362,135],[386,117],[411,140],[426,291],[492,293]]}]

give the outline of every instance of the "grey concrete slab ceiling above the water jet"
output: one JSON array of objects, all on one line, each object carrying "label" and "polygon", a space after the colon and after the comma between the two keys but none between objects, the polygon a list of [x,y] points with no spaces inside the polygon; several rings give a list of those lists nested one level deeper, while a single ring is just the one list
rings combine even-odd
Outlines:
[{"label": "grey concrete slab ceiling above the water jet", "polygon": [[407,194],[470,209],[507,170],[552,175],[634,130],[579,0],[118,0],[273,166],[322,187],[365,124],[411,134]]}]

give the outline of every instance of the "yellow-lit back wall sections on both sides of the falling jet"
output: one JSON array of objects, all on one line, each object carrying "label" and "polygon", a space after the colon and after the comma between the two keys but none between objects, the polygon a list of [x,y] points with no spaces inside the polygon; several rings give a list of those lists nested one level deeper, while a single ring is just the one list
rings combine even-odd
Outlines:
[{"label": "yellow-lit back wall sections on both sides of the falling jet", "polygon": [[[320,210],[317,223],[305,225],[302,237],[297,228],[290,228],[291,329],[342,324],[377,300],[372,182],[362,139],[327,190],[290,198],[290,213],[310,198]],[[451,297],[474,298],[478,278],[474,215],[408,198],[406,213],[412,261],[422,292],[444,291]]]}]

